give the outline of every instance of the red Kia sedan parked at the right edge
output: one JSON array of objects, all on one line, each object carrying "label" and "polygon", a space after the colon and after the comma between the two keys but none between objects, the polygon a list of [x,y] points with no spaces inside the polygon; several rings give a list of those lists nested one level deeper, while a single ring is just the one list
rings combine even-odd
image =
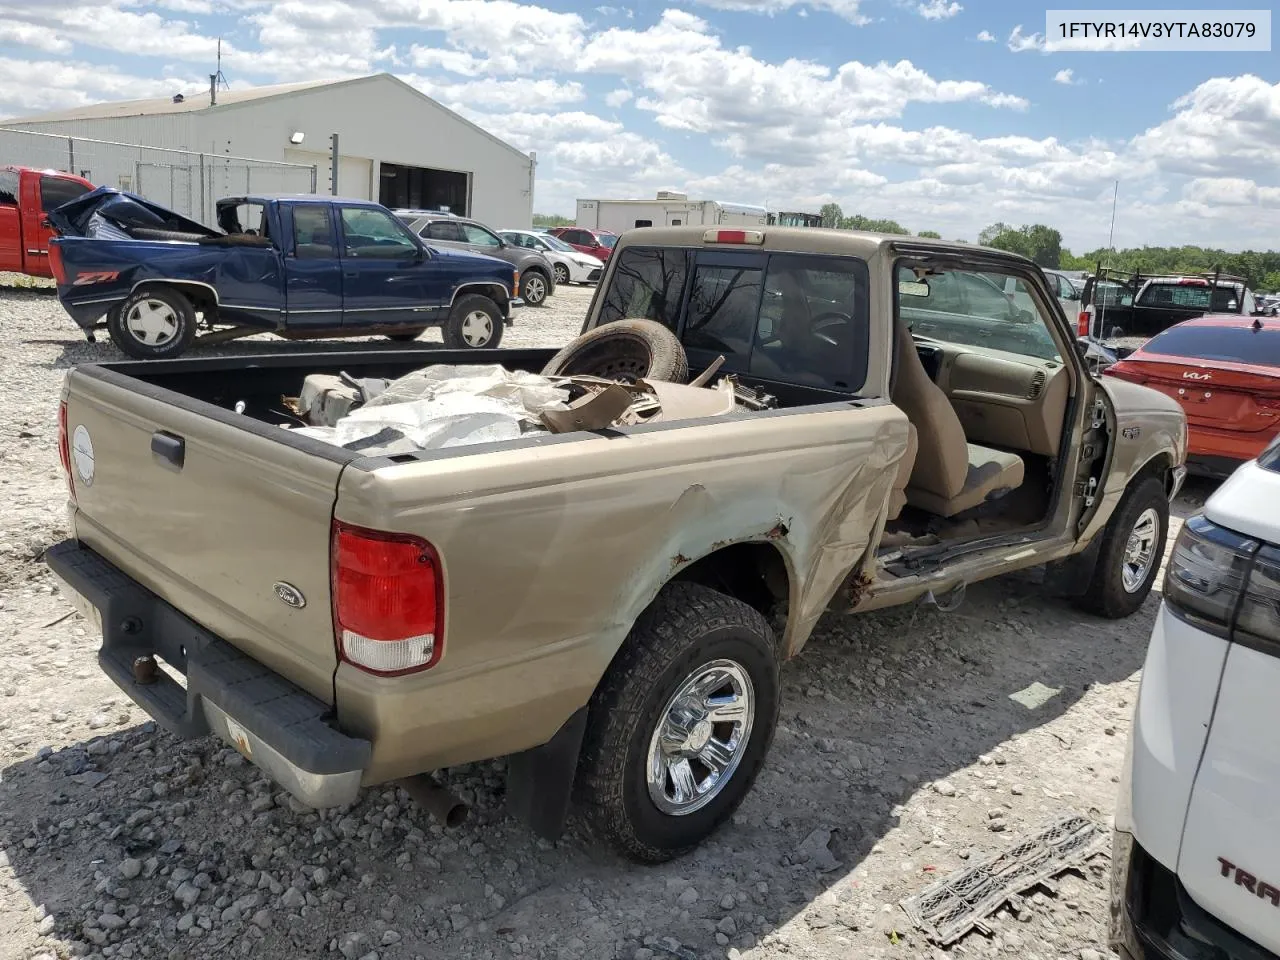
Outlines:
[{"label": "red Kia sedan parked at the right edge", "polygon": [[1193,474],[1226,476],[1280,434],[1280,323],[1274,320],[1238,314],[1184,320],[1106,372],[1181,404]]}]

